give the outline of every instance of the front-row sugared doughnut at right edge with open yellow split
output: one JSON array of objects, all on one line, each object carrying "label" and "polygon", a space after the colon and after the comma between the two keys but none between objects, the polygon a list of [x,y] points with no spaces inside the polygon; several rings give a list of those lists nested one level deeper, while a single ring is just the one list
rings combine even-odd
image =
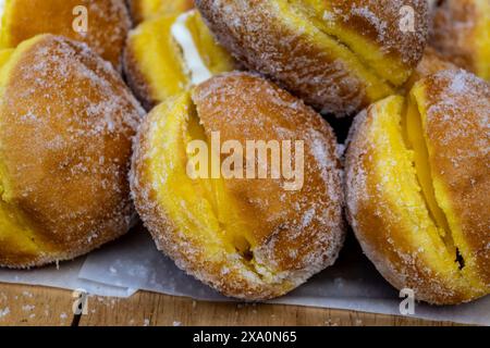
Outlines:
[{"label": "front-row sugared doughnut at right edge with open yellow split", "polygon": [[396,288],[436,304],[490,294],[490,86],[442,71],[362,112],[346,154],[350,222]]}]

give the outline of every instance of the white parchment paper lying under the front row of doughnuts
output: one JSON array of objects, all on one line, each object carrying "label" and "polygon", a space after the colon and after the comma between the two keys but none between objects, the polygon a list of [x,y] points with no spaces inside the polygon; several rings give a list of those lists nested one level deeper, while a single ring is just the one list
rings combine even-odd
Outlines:
[{"label": "white parchment paper lying under the front row of doughnuts", "polygon": [[[353,239],[353,238],[351,238]],[[197,300],[230,301],[179,270],[155,247],[143,228],[86,258],[32,271],[0,270],[0,282],[83,288],[101,296],[127,297],[136,289]],[[399,293],[348,240],[338,263],[273,303],[356,310],[400,315]],[[490,325],[490,296],[453,307],[416,303],[415,318]]]}]

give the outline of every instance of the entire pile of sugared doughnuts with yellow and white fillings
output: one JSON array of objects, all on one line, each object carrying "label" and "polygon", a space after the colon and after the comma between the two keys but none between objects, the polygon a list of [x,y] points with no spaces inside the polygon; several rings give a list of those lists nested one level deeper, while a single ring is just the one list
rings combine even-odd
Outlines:
[{"label": "entire pile of sugared doughnuts with yellow and white fillings", "polygon": [[0,266],[139,215],[183,271],[266,300],[348,223],[418,300],[490,294],[488,0],[0,4]]}]

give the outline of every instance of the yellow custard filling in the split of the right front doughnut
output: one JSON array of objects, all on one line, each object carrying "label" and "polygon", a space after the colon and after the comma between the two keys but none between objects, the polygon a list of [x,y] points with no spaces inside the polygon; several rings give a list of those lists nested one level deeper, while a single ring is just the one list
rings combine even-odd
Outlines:
[{"label": "yellow custard filling in the split of the right front doughnut", "polygon": [[473,256],[457,226],[444,186],[432,175],[426,137],[425,89],[409,98],[389,97],[373,104],[369,129],[373,141],[373,183],[404,228],[390,232],[405,240],[431,269],[477,291],[485,286],[473,274]]}]

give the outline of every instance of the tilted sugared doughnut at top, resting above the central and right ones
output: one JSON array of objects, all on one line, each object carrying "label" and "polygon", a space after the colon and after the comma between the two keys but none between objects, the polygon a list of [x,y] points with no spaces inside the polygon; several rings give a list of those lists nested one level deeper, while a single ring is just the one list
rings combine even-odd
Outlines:
[{"label": "tilted sugared doughnut at top, resting above the central and right ones", "polygon": [[420,61],[426,0],[196,0],[246,67],[324,113],[348,115],[392,95]]}]

